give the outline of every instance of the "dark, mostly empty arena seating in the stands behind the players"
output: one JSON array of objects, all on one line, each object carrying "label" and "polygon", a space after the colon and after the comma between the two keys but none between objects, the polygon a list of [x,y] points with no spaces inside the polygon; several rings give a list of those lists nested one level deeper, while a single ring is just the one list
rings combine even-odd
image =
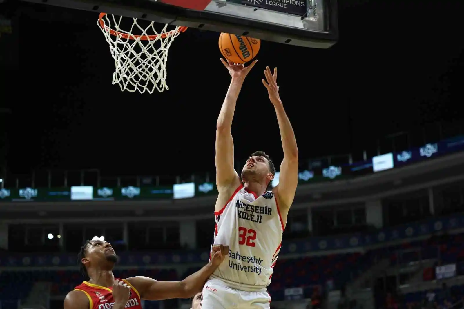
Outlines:
[{"label": "dark, mostly empty arena seating in the stands behind the players", "polygon": [[[464,234],[432,237],[426,240],[383,247],[362,254],[360,252],[311,256],[300,258],[279,258],[269,291],[273,299],[284,298],[285,288],[303,287],[305,296],[310,296],[315,285],[325,286],[332,281],[335,290],[358,277],[379,258],[389,258],[391,264],[407,264],[420,259],[435,259],[442,264],[457,263],[458,275],[464,275]],[[420,249],[419,249],[420,248]],[[407,249],[417,249],[408,251]],[[399,253],[401,252],[401,253]],[[146,269],[140,267],[132,270],[115,270],[115,276],[126,278],[138,275],[153,277],[157,280],[179,280],[186,277],[199,266],[180,272],[179,269]],[[433,270],[432,270],[433,273]],[[179,275],[180,274],[180,275]],[[427,280],[434,276],[427,277]],[[24,299],[32,284],[37,281],[52,282],[52,296],[63,296],[83,280],[77,270],[46,271],[3,271],[0,273],[0,299],[2,309],[16,309],[17,299]],[[453,287],[456,295],[462,295],[464,287]],[[404,296],[405,303],[414,303],[423,299],[424,292]],[[8,301],[11,300],[11,301]],[[147,309],[157,309],[157,302],[148,302]]]}]

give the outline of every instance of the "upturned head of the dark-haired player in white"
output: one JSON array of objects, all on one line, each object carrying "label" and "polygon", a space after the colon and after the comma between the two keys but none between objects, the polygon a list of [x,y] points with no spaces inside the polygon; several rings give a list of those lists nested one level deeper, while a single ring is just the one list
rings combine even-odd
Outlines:
[{"label": "upturned head of the dark-haired player in white", "polygon": [[250,155],[242,169],[242,180],[244,182],[264,183],[269,187],[276,174],[276,168],[269,155],[264,151],[255,151]]}]

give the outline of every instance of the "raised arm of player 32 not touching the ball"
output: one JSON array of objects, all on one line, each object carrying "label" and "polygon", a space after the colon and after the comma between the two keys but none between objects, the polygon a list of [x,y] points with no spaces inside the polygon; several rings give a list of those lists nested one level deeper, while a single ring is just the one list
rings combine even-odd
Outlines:
[{"label": "raised arm of player 32 not touching the ball", "polygon": [[274,74],[272,74],[271,69],[267,66],[264,75],[267,83],[263,79],[263,84],[268,91],[272,105],[276,109],[280,139],[284,150],[284,160],[282,160],[279,170],[279,184],[274,190],[279,198],[279,206],[288,210],[293,203],[296,186],[298,185],[298,147],[295,133],[280,100],[279,87],[277,86],[277,68],[274,69]]}]

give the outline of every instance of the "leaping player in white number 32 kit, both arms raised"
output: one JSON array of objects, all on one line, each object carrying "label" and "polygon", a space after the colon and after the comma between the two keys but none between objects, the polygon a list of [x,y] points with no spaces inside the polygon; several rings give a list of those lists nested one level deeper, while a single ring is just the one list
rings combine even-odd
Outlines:
[{"label": "leaping player in white number 32 kit, both arms raised", "polygon": [[[282,244],[287,214],[298,182],[298,148],[285,114],[277,86],[277,69],[266,67],[262,80],[274,106],[284,150],[279,184],[268,190],[275,167],[264,152],[255,152],[245,162],[241,179],[234,170],[232,118],[238,93],[256,61],[245,67],[222,63],[232,81],[222,104],[216,128],[216,184],[219,191],[214,215],[214,244],[229,246],[228,258],[206,282],[200,309],[269,309],[271,296],[266,287]],[[239,115],[242,116],[242,115]],[[253,121],[259,112],[242,116]],[[265,138],[259,132],[243,136],[246,142]]]}]

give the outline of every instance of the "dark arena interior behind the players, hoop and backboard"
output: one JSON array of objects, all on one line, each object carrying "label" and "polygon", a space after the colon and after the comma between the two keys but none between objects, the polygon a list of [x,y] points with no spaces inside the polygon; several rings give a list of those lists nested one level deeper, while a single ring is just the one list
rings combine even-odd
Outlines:
[{"label": "dark arena interior behind the players, hoop and backboard", "polygon": [[[266,65],[300,161],[271,308],[463,308],[461,12],[338,1],[332,47],[262,41],[232,125],[236,169],[256,150],[283,157]],[[0,1],[0,309],[62,309],[94,236],[115,247],[121,278],[180,280],[209,258],[230,79],[219,33],[187,29],[169,50],[170,89],[129,93],[111,84],[97,18]]]}]

